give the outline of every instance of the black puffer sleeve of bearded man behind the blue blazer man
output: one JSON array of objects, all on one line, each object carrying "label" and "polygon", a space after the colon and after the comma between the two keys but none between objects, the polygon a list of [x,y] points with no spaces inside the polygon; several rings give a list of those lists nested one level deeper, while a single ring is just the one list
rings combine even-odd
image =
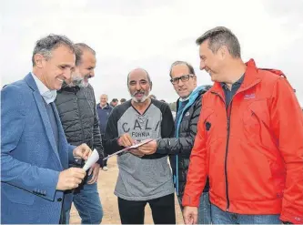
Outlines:
[{"label": "black puffer sleeve of bearded man behind the blue blazer man", "polygon": [[103,158],[104,158],[104,148],[102,146],[102,138],[100,134],[100,128],[99,128],[99,120],[96,112],[96,99],[95,99],[95,94],[94,90],[93,91],[93,97],[94,97],[94,128],[93,128],[93,135],[94,135],[94,148],[96,148],[98,154],[99,154],[99,160],[98,163],[102,166],[103,165]]}]

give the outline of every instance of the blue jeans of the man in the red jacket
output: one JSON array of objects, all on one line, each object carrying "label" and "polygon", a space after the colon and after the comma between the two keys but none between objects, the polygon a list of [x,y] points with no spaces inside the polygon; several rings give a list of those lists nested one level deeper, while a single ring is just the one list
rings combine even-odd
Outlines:
[{"label": "blue jeans of the man in the red jacket", "polygon": [[214,224],[282,224],[279,215],[246,215],[220,210],[211,204],[211,220]]}]

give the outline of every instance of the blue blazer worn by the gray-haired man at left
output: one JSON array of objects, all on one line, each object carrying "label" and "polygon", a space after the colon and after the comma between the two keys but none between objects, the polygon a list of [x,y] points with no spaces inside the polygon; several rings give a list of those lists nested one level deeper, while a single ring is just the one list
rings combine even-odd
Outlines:
[{"label": "blue blazer worn by the gray-haired man at left", "polygon": [[71,205],[63,205],[65,193],[56,190],[56,184],[59,172],[74,160],[75,146],[67,143],[56,111],[55,115],[58,149],[32,75],[1,90],[2,223],[58,223],[61,209]]}]

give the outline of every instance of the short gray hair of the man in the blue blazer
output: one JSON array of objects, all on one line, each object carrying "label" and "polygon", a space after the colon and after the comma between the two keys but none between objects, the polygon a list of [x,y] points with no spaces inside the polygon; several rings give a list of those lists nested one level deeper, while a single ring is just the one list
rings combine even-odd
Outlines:
[{"label": "short gray hair of the man in the blue blazer", "polygon": [[35,48],[32,56],[32,63],[35,66],[35,55],[41,54],[46,60],[51,58],[52,51],[59,46],[67,46],[75,53],[74,43],[67,36],[49,35],[41,38],[35,43]]}]

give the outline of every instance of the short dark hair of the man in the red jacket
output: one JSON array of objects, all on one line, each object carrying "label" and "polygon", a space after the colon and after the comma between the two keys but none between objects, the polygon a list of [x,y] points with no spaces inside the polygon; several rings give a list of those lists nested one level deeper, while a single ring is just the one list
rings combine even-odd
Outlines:
[{"label": "short dark hair of the man in the red jacket", "polygon": [[217,26],[208,30],[202,36],[199,36],[196,40],[196,44],[199,46],[205,41],[208,42],[208,48],[217,53],[217,50],[221,46],[227,46],[228,52],[231,56],[238,58],[241,57],[241,47],[235,36],[227,27]]}]

